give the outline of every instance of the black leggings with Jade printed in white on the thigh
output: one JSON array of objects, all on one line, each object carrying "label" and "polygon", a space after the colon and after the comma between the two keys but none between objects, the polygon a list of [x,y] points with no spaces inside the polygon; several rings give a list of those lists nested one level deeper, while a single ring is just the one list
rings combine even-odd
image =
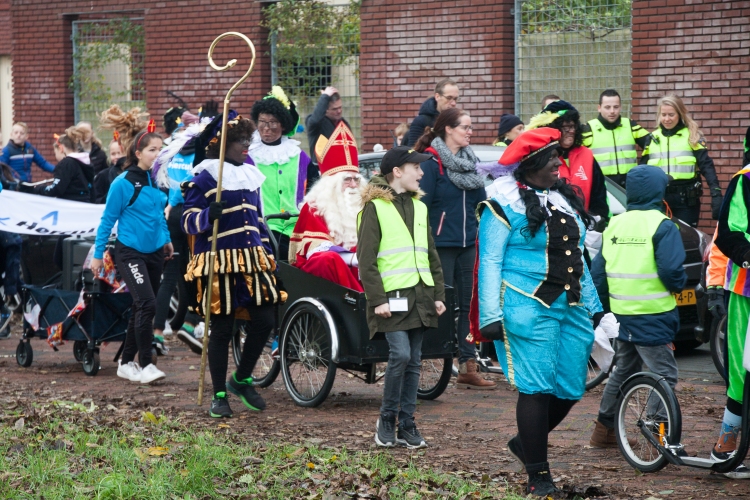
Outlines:
[{"label": "black leggings with Jade printed in white on the thigh", "polygon": [[128,285],[130,295],[133,296],[128,332],[122,350],[122,363],[133,361],[137,352],[138,363],[145,368],[151,364],[156,293],[164,267],[164,252],[159,249],[153,253],[141,253],[117,241],[115,264],[123,281]]}]

